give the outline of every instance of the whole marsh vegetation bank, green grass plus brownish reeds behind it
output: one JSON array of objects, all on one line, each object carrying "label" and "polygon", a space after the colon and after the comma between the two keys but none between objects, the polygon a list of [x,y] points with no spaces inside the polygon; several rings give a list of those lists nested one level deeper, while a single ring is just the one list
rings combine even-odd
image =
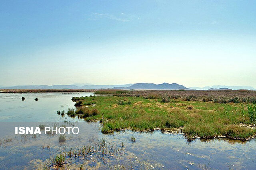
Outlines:
[{"label": "whole marsh vegetation bank, green grass plus brownish reeds behind it", "polygon": [[[181,131],[192,138],[248,140],[256,135],[254,91],[120,91],[107,96],[73,97],[72,116],[102,122],[102,132]],[[76,104],[78,105],[78,104]]]}]

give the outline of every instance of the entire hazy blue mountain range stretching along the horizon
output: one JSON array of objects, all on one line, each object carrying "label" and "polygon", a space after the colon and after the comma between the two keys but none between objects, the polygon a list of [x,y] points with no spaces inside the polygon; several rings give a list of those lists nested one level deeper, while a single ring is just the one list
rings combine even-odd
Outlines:
[{"label": "entire hazy blue mountain range stretching along the horizon", "polygon": [[206,87],[185,87],[177,83],[135,83],[135,84],[123,84],[123,85],[93,85],[90,83],[77,83],[72,85],[24,85],[24,86],[0,86],[0,89],[140,89],[140,90],[256,90],[251,86],[206,86]]}]

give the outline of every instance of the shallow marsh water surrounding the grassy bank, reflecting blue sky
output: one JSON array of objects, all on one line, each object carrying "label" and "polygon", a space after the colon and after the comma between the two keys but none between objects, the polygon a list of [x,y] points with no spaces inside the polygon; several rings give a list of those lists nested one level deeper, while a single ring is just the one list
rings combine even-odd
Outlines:
[{"label": "shallow marsh water surrounding the grassy bank, reflecting blue sky", "polygon": [[[98,156],[95,152],[85,158],[71,157],[64,168],[77,169],[84,164],[84,168],[100,169],[255,169],[255,140],[197,139],[189,143],[182,134],[163,134],[160,131],[102,134],[98,122],[88,123],[57,115],[57,110],[74,108],[73,96],[89,95],[93,94],[0,93],[0,169],[42,168],[57,153],[68,152],[71,148],[78,150],[82,146],[97,146],[102,139],[108,144],[106,155]],[[24,101],[22,96],[26,98]],[[38,101],[34,100],[36,97]],[[67,135],[66,142],[59,143],[58,134],[14,135],[11,128],[14,125],[36,126],[42,123],[74,124],[80,127],[80,133],[77,136]],[[135,137],[135,142],[131,141],[131,137]]]}]

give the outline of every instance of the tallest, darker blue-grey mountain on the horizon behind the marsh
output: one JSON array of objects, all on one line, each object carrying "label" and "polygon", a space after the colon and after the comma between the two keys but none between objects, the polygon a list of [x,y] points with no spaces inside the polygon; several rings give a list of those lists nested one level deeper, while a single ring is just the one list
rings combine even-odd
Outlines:
[{"label": "tallest, darker blue-grey mountain on the horizon behind the marsh", "polygon": [[162,83],[162,84],[153,84],[153,83],[136,83],[126,89],[147,89],[147,90],[190,90],[183,85],[177,83]]}]

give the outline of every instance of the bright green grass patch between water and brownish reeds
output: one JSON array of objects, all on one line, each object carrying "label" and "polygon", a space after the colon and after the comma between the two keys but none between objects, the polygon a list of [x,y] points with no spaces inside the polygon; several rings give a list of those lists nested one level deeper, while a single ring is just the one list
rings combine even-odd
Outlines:
[{"label": "bright green grass patch between water and brownish reeds", "polygon": [[[188,96],[193,98],[193,96]],[[245,103],[214,103],[170,99],[161,102],[153,96],[92,96],[84,102],[96,102],[95,107],[79,108],[76,115],[83,115],[86,121],[102,120],[102,132],[114,130],[172,130],[182,128],[187,136],[213,138],[226,136],[245,139],[253,136],[256,130],[241,127],[240,123],[250,124],[250,113]],[[127,104],[120,104],[127,102]],[[128,101],[130,104],[128,104]],[[93,114],[92,109],[97,111]],[[253,109],[252,109],[253,110]]]}]

